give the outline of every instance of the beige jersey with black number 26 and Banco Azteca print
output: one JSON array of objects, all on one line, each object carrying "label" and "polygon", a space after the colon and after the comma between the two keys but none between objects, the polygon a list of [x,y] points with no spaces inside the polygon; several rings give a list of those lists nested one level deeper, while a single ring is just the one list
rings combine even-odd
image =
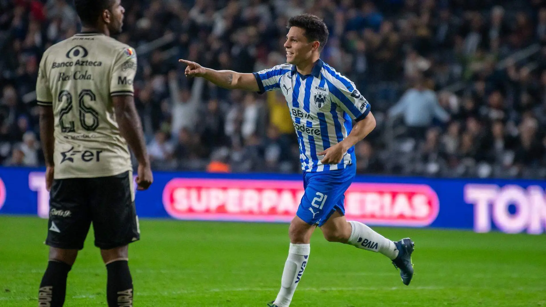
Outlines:
[{"label": "beige jersey with black number 26 and Banco Azteca print", "polygon": [[132,169],[111,97],[133,95],[135,73],[135,50],[103,34],[76,34],[45,51],[36,93],[55,116],[55,179]]}]

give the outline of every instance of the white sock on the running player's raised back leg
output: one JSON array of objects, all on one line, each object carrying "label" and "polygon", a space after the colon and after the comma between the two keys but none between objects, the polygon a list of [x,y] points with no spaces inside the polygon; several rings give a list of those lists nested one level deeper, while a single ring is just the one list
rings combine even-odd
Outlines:
[{"label": "white sock on the running player's raised back leg", "polygon": [[349,221],[349,223],[351,223],[352,229],[348,244],[359,249],[380,252],[391,260],[398,256],[398,249],[396,249],[393,241],[383,237],[363,223],[355,221]]}]

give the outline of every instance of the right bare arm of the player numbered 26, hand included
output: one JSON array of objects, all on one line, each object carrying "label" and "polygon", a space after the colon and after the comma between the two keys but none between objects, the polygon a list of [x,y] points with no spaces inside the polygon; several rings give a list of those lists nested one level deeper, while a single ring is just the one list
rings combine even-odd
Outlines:
[{"label": "right bare arm of the player numbered 26, hand included", "polygon": [[146,151],[144,132],[140,122],[140,116],[136,112],[133,96],[123,95],[112,97],[116,121],[120,127],[120,133],[127,140],[138,161],[138,176],[136,184],[138,190],[146,190],[153,182],[150,160]]}]

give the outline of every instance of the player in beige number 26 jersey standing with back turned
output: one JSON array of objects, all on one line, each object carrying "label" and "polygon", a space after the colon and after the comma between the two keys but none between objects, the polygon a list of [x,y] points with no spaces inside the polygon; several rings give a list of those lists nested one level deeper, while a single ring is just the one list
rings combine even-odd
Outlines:
[{"label": "player in beige number 26 jersey standing with back turned", "polygon": [[136,54],[110,37],[121,32],[120,0],[74,2],[82,33],[46,50],[36,85],[51,207],[38,305],[64,304],[68,271],[93,223],[108,270],[108,305],[128,307],[128,244],[140,237],[128,145],[139,163],[138,189],[153,181],[134,106]]}]

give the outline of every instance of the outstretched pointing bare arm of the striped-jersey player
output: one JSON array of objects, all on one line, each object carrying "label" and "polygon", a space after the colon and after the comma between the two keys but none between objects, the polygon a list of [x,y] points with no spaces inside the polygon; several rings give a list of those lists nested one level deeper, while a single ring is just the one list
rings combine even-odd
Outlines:
[{"label": "outstretched pointing bare arm of the striped-jersey player", "polygon": [[200,66],[198,63],[178,60],[187,65],[184,74],[186,76],[203,77],[213,84],[228,88],[230,90],[245,90],[258,92],[260,90],[256,78],[253,74],[242,74],[232,70],[214,70]]}]

